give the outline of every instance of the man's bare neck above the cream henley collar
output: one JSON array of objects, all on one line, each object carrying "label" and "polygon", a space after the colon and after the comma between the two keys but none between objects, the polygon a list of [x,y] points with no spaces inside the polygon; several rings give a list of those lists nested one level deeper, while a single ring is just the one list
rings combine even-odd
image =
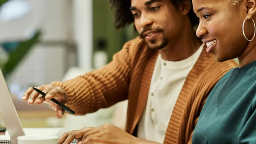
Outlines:
[{"label": "man's bare neck above the cream henley collar", "polygon": [[193,28],[189,27],[184,28],[179,38],[170,41],[159,53],[164,60],[180,61],[193,55],[200,45],[202,41],[196,37]]}]

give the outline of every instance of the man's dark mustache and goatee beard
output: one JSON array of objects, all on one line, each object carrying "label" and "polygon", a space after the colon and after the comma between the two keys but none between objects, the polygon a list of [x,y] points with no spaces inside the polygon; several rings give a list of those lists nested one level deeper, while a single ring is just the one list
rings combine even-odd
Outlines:
[{"label": "man's dark mustache and goatee beard", "polygon": [[[140,33],[140,38],[143,39],[145,42],[145,36],[143,36],[143,34],[149,30],[153,30],[152,28],[149,28],[149,27],[146,27],[146,28],[143,28],[142,32]],[[156,30],[157,33],[163,33],[164,29],[161,29],[161,28],[155,28],[154,30]],[[150,40],[149,41],[151,44],[156,44],[156,40]],[[161,43],[159,45],[156,45],[156,46],[150,46],[150,44],[148,44],[147,42],[147,45],[150,49],[153,49],[153,50],[160,50],[160,49],[163,49],[167,44],[168,44],[168,40],[166,38],[164,38]]]}]

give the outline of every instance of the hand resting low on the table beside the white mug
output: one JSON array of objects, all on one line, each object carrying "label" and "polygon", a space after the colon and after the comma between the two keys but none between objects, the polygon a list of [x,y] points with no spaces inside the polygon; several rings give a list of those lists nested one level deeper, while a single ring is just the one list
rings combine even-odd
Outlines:
[{"label": "hand resting low on the table beside the white mug", "polygon": [[140,139],[130,135],[112,124],[101,127],[85,127],[81,130],[64,133],[58,144],[70,144],[74,139],[77,144],[138,144]]}]

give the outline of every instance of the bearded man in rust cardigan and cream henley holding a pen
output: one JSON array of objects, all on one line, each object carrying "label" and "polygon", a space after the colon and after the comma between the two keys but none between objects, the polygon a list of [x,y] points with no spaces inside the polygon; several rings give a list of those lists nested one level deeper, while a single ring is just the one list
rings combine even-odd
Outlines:
[{"label": "bearded man in rust cardigan and cream henley holding a pen", "polygon": [[59,143],[191,143],[208,94],[236,63],[214,61],[193,29],[190,0],[111,0],[116,27],[134,22],[140,33],[104,68],[65,82],[29,88],[23,100],[48,103],[61,118],[60,100],[76,115],[92,113],[128,99],[126,132],[111,124],[65,133]]}]

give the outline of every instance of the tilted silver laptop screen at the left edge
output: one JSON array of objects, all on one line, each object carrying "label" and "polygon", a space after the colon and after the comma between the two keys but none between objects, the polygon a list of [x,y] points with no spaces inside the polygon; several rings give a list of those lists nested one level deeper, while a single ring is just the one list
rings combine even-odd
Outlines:
[{"label": "tilted silver laptop screen at the left edge", "polygon": [[0,68],[0,115],[11,138],[12,144],[17,144],[17,137],[25,135],[11,93]]}]

